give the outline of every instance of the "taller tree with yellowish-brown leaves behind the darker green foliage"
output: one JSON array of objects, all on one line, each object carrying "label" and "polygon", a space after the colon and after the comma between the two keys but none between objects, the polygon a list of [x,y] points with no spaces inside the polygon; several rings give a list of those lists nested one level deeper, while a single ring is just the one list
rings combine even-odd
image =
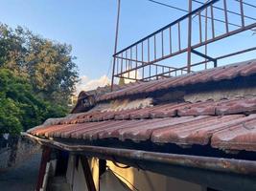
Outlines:
[{"label": "taller tree with yellowish-brown leaves behind the darker green foliage", "polygon": [[29,79],[37,96],[67,104],[77,82],[72,48],[21,27],[0,25],[0,66]]}]

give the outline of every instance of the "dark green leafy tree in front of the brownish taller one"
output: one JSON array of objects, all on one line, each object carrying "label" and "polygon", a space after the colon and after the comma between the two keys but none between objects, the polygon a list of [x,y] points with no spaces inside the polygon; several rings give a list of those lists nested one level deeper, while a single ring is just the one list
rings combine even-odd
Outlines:
[{"label": "dark green leafy tree in front of the brownish taller one", "polygon": [[35,96],[29,81],[0,69],[0,134],[18,134],[48,117],[63,117],[65,108]]}]

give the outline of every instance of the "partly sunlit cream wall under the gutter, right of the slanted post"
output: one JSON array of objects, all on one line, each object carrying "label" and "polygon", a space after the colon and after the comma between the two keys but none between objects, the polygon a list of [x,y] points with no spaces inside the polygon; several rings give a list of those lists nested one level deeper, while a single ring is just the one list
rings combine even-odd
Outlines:
[{"label": "partly sunlit cream wall under the gutter, right of the slanted post", "polygon": [[[120,168],[107,160],[107,170],[101,178],[101,190],[145,190],[145,191],[202,191],[201,185],[177,180],[150,171],[133,167]],[[124,164],[120,164],[124,166]],[[117,189],[118,188],[118,189]],[[128,189],[127,189],[128,188]]]}]

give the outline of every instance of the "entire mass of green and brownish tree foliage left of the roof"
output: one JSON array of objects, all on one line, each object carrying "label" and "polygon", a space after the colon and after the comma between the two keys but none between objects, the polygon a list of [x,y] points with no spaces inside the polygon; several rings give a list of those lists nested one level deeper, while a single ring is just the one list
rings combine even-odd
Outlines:
[{"label": "entire mass of green and brownish tree foliage left of the roof", "polygon": [[0,134],[63,117],[78,73],[71,46],[0,24]]}]

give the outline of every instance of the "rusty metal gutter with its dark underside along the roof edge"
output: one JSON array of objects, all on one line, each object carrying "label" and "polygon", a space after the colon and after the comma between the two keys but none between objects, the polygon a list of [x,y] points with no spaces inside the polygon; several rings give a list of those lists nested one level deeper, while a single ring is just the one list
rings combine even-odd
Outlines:
[{"label": "rusty metal gutter with its dark underside along the roof edge", "polygon": [[22,136],[44,146],[68,151],[73,155],[117,161],[137,169],[194,182],[202,187],[223,191],[256,190],[256,161],[75,145],[54,139],[38,138],[27,133],[23,133]]}]

